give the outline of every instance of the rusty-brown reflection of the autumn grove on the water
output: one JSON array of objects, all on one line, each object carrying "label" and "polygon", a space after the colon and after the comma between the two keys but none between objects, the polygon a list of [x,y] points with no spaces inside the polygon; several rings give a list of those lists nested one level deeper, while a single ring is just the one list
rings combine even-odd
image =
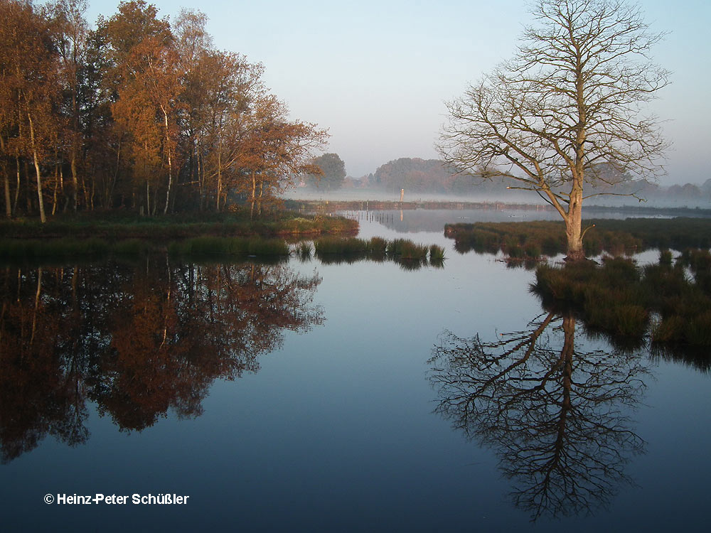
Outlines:
[{"label": "rusty-brown reflection of the autumn grove on the water", "polygon": [[0,271],[3,462],[46,436],[87,441],[87,401],[122,430],[198,416],[215,379],[257,372],[283,330],[323,323],[321,278],[285,264],[104,264]]}]

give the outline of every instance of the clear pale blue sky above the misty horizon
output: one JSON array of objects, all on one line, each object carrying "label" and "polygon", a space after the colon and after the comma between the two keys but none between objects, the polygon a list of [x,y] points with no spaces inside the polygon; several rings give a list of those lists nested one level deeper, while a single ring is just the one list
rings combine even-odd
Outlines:
[{"label": "clear pale blue sky above the misty horizon", "polygon": [[[117,0],[88,0],[95,23]],[[292,119],[318,124],[353,177],[401,157],[437,158],[445,102],[510,58],[531,21],[516,0],[149,1],[171,20],[208,16],[215,48],[264,65],[264,82]],[[672,71],[652,111],[671,141],[661,185],[703,183],[711,134],[708,0],[639,2],[651,30],[668,32],[653,59]]]}]

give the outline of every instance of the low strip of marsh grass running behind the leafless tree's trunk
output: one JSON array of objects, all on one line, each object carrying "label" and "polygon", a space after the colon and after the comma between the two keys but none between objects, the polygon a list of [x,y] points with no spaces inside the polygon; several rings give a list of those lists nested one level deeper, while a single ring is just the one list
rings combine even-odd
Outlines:
[{"label": "low strip of marsh grass running behind the leafless tree's trunk", "polygon": [[[590,227],[583,240],[588,256],[711,247],[711,219],[705,218],[602,219],[587,220],[583,226]],[[565,225],[557,221],[448,224],[444,235],[454,239],[458,252],[496,254],[501,250],[513,264],[562,254],[567,247]]]}]

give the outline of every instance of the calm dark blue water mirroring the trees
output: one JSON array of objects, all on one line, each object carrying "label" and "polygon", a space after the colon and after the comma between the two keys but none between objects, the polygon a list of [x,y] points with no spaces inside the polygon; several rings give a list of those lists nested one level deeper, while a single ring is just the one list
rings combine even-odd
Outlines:
[{"label": "calm dark blue water mirroring the trees", "polygon": [[[707,530],[707,372],[388,215],[361,236],[441,244],[444,268],[2,269],[3,529]],[[97,494],[127,499],[57,502]],[[166,494],[189,497],[132,500]]]}]

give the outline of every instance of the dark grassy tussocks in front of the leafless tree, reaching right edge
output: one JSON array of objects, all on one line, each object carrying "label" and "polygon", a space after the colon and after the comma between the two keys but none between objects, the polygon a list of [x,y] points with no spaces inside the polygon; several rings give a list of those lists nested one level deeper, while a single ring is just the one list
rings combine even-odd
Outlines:
[{"label": "dark grassy tussocks in front of the leafless tree, reaching right edge", "polygon": [[[638,267],[626,258],[539,266],[533,291],[544,306],[576,313],[589,330],[635,348],[649,333],[656,352],[688,350],[695,365],[711,366],[711,254],[689,249],[672,262],[662,250],[658,264]],[[696,357],[702,355],[703,357]]]}]

